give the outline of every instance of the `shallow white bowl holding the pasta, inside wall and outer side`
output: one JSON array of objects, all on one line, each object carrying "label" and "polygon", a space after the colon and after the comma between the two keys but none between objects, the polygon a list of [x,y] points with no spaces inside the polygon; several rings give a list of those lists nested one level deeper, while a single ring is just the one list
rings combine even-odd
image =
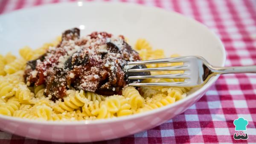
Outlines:
[{"label": "shallow white bowl holding the pasta, inside wall and outer side", "polygon": [[[80,3],[81,4],[81,3]],[[80,26],[82,25],[82,26]],[[41,46],[66,29],[84,27],[92,31],[123,34],[131,44],[142,37],[154,48],[171,54],[203,56],[212,65],[224,66],[221,41],[207,27],[180,14],[159,8],[122,3],[63,3],[15,11],[0,16],[1,54],[29,45]],[[96,121],[32,121],[0,115],[0,128],[29,138],[59,142],[101,141],[128,136],[156,127],[184,112],[218,79],[174,104],[133,116]]]}]

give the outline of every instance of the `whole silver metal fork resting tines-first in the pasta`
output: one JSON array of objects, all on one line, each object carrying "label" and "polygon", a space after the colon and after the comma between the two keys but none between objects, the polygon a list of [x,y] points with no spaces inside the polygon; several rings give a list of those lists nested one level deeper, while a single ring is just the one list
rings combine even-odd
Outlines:
[{"label": "whole silver metal fork resting tines-first in the pasta", "polygon": [[129,86],[165,86],[165,87],[198,87],[204,85],[212,76],[226,73],[256,73],[256,65],[239,67],[214,67],[201,56],[180,56],[166,59],[129,62],[128,65],[146,65],[183,62],[183,65],[129,69],[128,72],[144,71],[184,71],[180,74],[165,74],[154,76],[129,76],[128,79],[185,79],[184,82],[154,82],[154,83],[130,83]]}]

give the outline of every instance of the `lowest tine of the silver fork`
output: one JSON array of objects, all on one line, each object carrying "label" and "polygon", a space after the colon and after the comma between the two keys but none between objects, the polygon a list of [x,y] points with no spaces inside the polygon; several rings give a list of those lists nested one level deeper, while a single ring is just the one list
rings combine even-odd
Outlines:
[{"label": "lowest tine of the silver fork", "polygon": [[152,83],[131,83],[128,84],[133,87],[191,87],[189,82],[152,82]]}]

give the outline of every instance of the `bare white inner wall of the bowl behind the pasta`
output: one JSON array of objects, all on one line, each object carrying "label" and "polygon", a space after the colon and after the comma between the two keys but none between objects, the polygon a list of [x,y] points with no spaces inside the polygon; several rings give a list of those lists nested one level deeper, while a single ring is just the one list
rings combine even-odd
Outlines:
[{"label": "bare white inner wall of the bowl behind the pasta", "polygon": [[63,3],[2,15],[0,54],[18,54],[25,45],[37,48],[73,27],[83,28],[81,35],[92,31],[122,34],[131,45],[145,38],[154,48],[163,49],[167,57],[198,55],[215,66],[223,66],[225,61],[221,41],[204,25],[158,8],[120,3]]}]

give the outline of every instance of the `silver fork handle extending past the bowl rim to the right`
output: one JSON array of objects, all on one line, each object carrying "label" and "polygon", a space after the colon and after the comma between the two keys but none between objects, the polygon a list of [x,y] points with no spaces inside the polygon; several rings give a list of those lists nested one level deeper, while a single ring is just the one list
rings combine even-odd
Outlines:
[{"label": "silver fork handle extending past the bowl rim to the right", "polygon": [[219,67],[219,68],[213,68],[212,72],[216,74],[256,73],[256,65],[238,66],[238,67]]}]

